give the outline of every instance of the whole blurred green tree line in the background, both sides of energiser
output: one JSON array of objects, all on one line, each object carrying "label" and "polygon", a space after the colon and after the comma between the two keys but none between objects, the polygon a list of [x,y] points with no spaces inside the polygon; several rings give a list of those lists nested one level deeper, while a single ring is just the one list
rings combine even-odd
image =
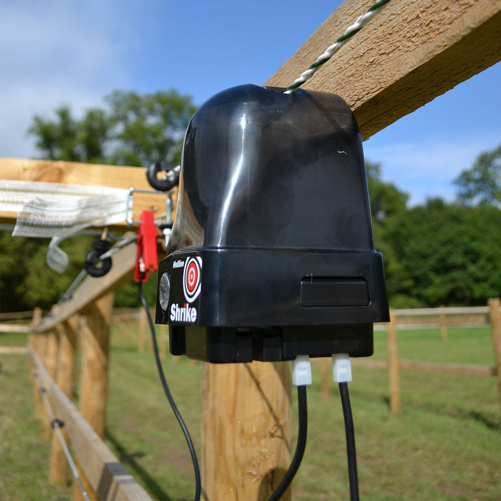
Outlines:
[{"label": "whole blurred green tree line in the background, both sides of energiser", "polygon": [[[36,115],[29,129],[43,159],[147,166],[180,162],[184,131],[196,106],[176,91],[117,91],[104,107],[76,118],[69,106],[54,117]],[[390,306],[484,305],[501,292],[501,144],[480,153],[454,180],[456,200],[428,199],[409,207],[408,195],[381,179],[380,164],[366,162],[376,249],[383,253]],[[66,273],[46,265],[49,239],[0,232],[2,311],[50,308],[82,269],[92,236],[61,244],[70,256]],[[154,304],[156,277],[145,284]],[[139,306],[135,284],[115,305]]]}]

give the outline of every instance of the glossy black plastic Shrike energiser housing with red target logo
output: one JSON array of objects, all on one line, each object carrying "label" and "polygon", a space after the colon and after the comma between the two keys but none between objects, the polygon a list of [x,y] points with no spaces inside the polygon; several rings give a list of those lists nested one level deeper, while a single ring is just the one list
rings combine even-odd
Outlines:
[{"label": "glossy black plastic Shrike energiser housing with red target logo", "polygon": [[281,91],[227,89],[188,125],[158,274],[174,355],[369,356],[389,320],[355,117],[334,94]]}]

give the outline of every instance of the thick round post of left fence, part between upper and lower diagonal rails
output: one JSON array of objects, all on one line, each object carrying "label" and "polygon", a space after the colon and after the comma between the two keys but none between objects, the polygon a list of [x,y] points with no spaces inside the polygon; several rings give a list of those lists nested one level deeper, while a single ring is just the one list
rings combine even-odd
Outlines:
[{"label": "thick round post of left fence, part between upper and lower diagonal rails", "polygon": [[108,387],[108,353],[113,293],[90,304],[82,333],[82,372],[80,379],[80,412],[103,438],[106,422]]}]

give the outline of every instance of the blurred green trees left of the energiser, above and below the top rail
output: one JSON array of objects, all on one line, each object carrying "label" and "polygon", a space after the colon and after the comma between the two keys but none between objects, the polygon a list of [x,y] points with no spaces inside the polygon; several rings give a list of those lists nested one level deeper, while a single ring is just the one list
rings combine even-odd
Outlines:
[{"label": "blurred green trees left of the energiser, above and below the top rail", "polygon": [[[196,111],[189,96],[174,90],[144,95],[116,91],[104,101],[103,107],[89,109],[81,118],[66,105],[58,107],[53,118],[36,115],[28,133],[35,137],[41,157],[132,166],[161,160],[180,162],[184,132]],[[3,311],[49,308],[57,302],[82,269],[92,237],[63,241],[61,248],[71,264],[62,276],[46,265],[48,243],[47,239],[0,232]],[[144,292],[149,304],[154,304],[156,275],[150,275]],[[117,291],[115,304],[139,306],[135,284]]]}]

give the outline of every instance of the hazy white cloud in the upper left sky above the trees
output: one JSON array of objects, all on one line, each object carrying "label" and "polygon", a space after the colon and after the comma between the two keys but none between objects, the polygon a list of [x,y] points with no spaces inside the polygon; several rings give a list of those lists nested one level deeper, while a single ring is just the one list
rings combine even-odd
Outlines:
[{"label": "hazy white cloud in the upper left sky above the trees", "polygon": [[111,90],[127,87],[124,61],[134,36],[117,35],[126,24],[117,16],[119,6],[112,9],[112,4],[3,3],[0,156],[35,154],[33,140],[26,138],[35,113],[49,114],[68,103],[78,114],[101,104]]}]

